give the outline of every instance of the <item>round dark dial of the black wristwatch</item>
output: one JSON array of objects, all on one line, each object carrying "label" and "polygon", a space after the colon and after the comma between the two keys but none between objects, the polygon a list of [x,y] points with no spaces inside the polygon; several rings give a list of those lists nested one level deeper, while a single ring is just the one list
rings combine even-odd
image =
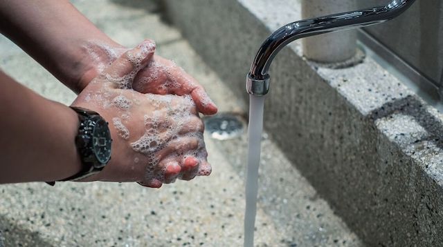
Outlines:
[{"label": "round dark dial of the black wristwatch", "polygon": [[96,158],[103,166],[111,158],[111,142],[111,134],[107,122],[101,118],[98,119],[92,131],[92,146]]}]

